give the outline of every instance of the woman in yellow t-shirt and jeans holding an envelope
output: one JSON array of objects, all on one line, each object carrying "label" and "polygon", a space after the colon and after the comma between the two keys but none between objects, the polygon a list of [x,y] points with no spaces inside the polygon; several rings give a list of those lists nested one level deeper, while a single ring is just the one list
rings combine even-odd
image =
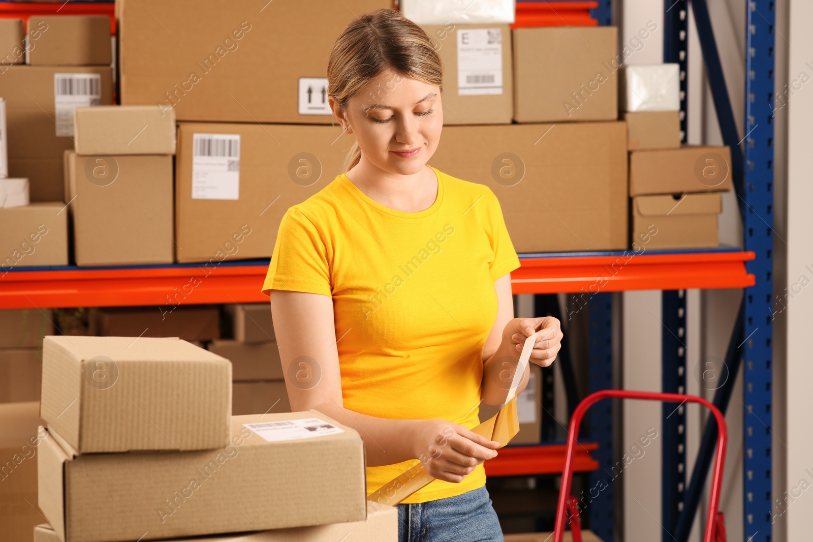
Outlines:
[{"label": "woman in yellow t-shirt and jeans holding an envelope", "polygon": [[524,340],[546,366],[562,333],[513,317],[520,262],[491,190],[427,164],[442,81],[398,11],[347,26],[328,96],[356,142],[346,173],[286,212],[263,291],[293,410],[359,431],[367,493],[417,461],[437,479],[398,505],[399,540],[502,540],[482,466],[498,443],[470,430],[481,401],[505,401]]}]

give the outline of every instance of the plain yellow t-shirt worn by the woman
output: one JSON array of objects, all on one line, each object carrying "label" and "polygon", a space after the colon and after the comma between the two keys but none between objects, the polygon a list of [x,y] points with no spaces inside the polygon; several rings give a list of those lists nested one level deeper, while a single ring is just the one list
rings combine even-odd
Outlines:
[{"label": "plain yellow t-shirt worn by the woman", "polygon": [[[263,292],[333,298],[346,409],[471,429],[482,348],[497,319],[494,281],[520,260],[493,192],[432,169],[437,199],[424,211],[386,208],[343,174],[289,208]],[[417,463],[367,467],[367,494]],[[461,483],[434,480],[404,502],[484,484],[480,465]]]}]

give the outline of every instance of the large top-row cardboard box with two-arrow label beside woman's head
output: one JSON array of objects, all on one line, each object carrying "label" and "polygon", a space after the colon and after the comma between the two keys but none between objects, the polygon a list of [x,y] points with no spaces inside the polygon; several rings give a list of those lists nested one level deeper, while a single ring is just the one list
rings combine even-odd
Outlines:
[{"label": "large top-row cardboard box with two-arrow label beside woman's head", "polygon": [[336,38],[392,0],[261,7],[258,15],[223,0],[121,2],[121,103],[175,108],[178,120],[330,124],[322,90]]}]

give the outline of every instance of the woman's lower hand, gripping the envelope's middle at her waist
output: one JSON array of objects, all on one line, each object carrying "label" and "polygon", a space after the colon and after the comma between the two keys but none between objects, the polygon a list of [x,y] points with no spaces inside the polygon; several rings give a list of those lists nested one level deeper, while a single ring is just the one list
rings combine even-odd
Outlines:
[{"label": "woman's lower hand, gripping the envelope's middle at her waist", "polygon": [[496,440],[446,420],[420,420],[415,428],[415,457],[433,478],[460,483],[476,466],[497,456]]}]

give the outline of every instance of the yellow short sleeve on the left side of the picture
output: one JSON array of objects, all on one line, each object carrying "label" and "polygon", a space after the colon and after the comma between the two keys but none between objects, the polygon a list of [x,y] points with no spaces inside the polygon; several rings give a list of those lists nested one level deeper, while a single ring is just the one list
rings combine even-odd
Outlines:
[{"label": "yellow short sleeve on the left side of the picture", "polygon": [[271,295],[272,290],[331,295],[324,238],[297,208],[289,208],[280,221],[263,282],[263,294]]}]

